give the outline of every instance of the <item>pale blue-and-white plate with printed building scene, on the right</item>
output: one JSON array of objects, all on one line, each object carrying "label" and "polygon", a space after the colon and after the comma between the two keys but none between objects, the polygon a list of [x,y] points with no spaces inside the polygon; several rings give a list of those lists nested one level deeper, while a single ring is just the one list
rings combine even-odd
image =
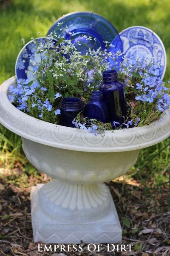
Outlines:
[{"label": "pale blue-and-white plate with printed building scene, on the right", "polygon": [[163,79],[167,66],[164,44],[155,32],[143,27],[132,26],[119,33],[123,53],[131,61],[153,62],[160,66],[159,77]]}]

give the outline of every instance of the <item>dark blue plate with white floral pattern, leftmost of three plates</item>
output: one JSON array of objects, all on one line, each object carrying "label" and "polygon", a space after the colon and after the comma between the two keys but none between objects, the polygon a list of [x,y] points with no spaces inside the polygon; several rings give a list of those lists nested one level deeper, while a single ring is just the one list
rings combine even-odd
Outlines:
[{"label": "dark blue plate with white floral pattern, leftmost of three plates", "polygon": [[34,40],[28,42],[17,56],[15,63],[15,75],[17,79],[28,79],[29,81],[34,80],[34,72],[37,71],[41,58],[45,56],[37,53],[42,47],[53,48],[56,44],[56,40],[51,41],[49,38],[40,37],[36,38],[37,45]]}]

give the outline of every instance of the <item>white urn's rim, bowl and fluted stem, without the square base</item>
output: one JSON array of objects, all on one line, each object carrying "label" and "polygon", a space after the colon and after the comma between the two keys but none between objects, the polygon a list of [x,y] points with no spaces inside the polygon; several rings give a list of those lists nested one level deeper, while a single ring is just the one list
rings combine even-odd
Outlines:
[{"label": "white urn's rim, bowl and fluted stem, without the square base", "polygon": [[[136,163],[141,148],[170,135],[168,115],[147,126],[97,136],[44,122],[11,104],[8,88],[14,84],[15,78],[11,77],[0,86],[0,122],[22,137],[23,150],[33,166],[54,179],[42,187],[40,200],[42,210],[58,219],[69,222],[73,215],[77,222],[86,222],[96,219],[98,210],[100,217],[105,215],[110,210],[110,199],[108,187],[102,183],[125,174]],[[46,207],[49,201],[53,204]],[[90,209],[88,214],[84,209]]]}]

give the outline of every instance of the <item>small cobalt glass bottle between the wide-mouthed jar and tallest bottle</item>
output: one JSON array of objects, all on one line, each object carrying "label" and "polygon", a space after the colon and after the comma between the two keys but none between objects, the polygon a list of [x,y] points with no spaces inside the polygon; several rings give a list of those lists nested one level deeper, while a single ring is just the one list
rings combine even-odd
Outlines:
[{"label": "small cobalt glass bottle between the wide-mouthed jar and tallest bottle", "polygon": [[85,106],[83,116],[88,119],[97,119],[100,122],[108,122],[108,110],[103,102],[103,94],[100,91],[92,91],[90,101]]}]

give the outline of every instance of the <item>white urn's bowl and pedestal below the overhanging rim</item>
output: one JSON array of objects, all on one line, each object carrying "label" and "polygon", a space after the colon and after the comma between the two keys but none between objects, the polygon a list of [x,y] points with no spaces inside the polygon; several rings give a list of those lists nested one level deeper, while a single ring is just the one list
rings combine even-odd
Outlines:
[{"label": "white urn's bowl and pedestal below the overhanging rim", "polygon": [[109,187],[134,165],[139,150],[83,152],[22,138],[28,160],[54,180],[31,190],[34,241],[120,242],[122,228]]}]

